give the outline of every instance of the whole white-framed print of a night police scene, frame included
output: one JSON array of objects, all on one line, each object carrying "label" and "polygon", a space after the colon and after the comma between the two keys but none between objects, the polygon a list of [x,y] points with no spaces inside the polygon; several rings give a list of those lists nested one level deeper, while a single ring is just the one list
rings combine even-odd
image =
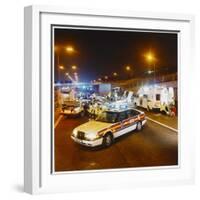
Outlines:
[{"label": "whole white-framed print of a night police scene, frame included", "polygon": [[26,192],[193,182],[193,23],[25,8]]}]

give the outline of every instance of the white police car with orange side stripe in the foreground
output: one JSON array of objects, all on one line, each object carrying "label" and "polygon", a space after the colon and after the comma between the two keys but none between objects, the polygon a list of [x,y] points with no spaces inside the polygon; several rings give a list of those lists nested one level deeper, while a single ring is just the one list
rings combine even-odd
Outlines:
[{"label": "white police car with orange side stripe in the foreground", "polygon": [[71,138],[84,146],[110,146],[114,139],[130,131],[140,131],[145,114],[136,109],[103,111],[95,120],[76,127]]}]

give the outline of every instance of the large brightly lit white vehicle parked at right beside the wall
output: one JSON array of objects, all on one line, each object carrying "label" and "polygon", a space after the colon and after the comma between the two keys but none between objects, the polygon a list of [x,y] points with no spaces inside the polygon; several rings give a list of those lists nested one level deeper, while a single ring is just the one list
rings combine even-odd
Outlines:
[{"label": "large brightly lit white vehicle parked at right beside the wall", "polygon": [[141,87],[134,97],[134,104],[170,114],[170,106],[175,104],[174,89],[157,85]]}]

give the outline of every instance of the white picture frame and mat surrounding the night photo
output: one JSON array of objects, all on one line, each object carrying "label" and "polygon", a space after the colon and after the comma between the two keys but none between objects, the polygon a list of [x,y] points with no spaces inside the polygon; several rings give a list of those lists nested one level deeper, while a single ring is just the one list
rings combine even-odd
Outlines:
[{"label": "white picture frame and mat surrounding the night photo", "polygon": [[[191,98],[194,17],[183,14],[85,10],[55,6],[25,8],[24,190],[31,194],[185,184],[194,181],[194,133]],[[100,172],[54,174],[51,170],[51,34],[52,24],[179,32],[179,165]],[[188,66],[190,70],[188,71]],[[187,115],[184,115],[187,113]],[[189,122],[189,123],[188,123]],[[195,132],[195,131],[194,131]],[[106,181],[105,181],[106,180]]]}]

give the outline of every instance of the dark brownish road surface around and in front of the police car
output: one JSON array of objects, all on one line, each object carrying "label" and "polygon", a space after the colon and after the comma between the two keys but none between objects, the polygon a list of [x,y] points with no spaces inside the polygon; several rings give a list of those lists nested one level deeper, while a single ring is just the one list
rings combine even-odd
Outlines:
[{"label": "dark brownish road surface around and in front of the police car", "polygon": [[55,129],[55,171],[168,166],[178,164],[178,134],[147,121],[109,148],[89,148],[74,143],[72,130],[87,118],[62,119]]}]

